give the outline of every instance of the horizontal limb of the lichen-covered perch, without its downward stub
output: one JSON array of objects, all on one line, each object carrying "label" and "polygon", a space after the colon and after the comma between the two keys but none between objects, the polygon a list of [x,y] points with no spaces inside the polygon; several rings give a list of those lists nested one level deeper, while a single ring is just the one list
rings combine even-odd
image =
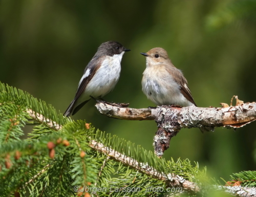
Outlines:
[{"label": "horizontal limb of the lichen-covered perch, without its downward stub", "polygon": [[108,102],[96,103],[98,111],[106,116],[122,120],[156,120],[168,122],[170,117],[177,117],[181,128],[191,127],[241,127],[256,120],[256,103],[242,103],[228,107],[172,107],[129,108]]}]

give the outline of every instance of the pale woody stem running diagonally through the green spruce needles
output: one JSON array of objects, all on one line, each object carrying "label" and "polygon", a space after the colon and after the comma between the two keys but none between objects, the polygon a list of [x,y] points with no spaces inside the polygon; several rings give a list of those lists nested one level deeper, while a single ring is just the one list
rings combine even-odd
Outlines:
[{"label": "pale woody stem running diagonally through the green spruce needles", "polygon": [[[41,124],[46,124],[47,126],[55,130],[60,130],[62,128],[62,125],[58,125],[56,123],[53,123],[52,121],[46,120],[42,115],[36,114],[32,110],[27,110],[27,112],[32,119],[34,119],[35,121]],[[170,173],[170,174],[167,174],[166,176],[165,174],[158,172],[156,169],[152,168],[151,166],[148,166],[147,164],[144,164],[144,163],[140,163],[133,158],[126,157],[120,152],[117,152],[112,148],[106,147],[102,143],[96,142],[95,140],[91,140],[91,143],[89,145],[94,150],[102,152],[110,159],[121,162],[122,164],[129,166],[131,168],[134,168],[140,171],[141,173],[145,173],[147,174],[147,176],[151,176],[155,179],[165,181],[165,183],[168,186],[183,187],[184,190],[192,193],[200,192],[200,188],[196,183],[187,181],[184,178],[178,176],[177,174]],[[227,193],[238,195],[238,196],[256,196],[255,188],[247,188],[247,187],[241,187],[241,186],[234,186],[234,187],[214,186],[214,188],[217,190],[222,190]]]}]

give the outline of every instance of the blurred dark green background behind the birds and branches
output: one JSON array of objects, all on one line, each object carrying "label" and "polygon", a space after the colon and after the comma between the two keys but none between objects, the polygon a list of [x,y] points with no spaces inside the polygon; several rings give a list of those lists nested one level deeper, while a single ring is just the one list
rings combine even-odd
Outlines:
[{"label": "blurred dark green background behind the birds and branches", "polygon": [[[233,95],[256,101],[256,2],[231,0],[0,1],[0,80],[52,104],[61,113],[72,101],[87,63],[100,43],[116,40],[132,51],[122,59],[113,92],[104,98],[155,106],[141,91],[145,58],[167,50],[181,69],[198,106],[220,107]],[[153,150],[154,121],[124,121],[100,115],[95,101],[73,118]],[[253,122],[201,134],[182,129],[166,159],[188,158],[215,178],[255,170]],[[26,128],[27,130],[31,127]]]}]

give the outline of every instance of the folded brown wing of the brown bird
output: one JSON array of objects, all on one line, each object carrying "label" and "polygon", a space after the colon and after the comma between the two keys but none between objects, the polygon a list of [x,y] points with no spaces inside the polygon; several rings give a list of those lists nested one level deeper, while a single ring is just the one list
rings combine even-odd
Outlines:
[{"label": "folded brown wing of the brown bird", "polygon": [[167,71],[170,73],[170,75],[174,76],[174,80],[178,83],[178,85],[180,86],[180,92],[181,94],[187,99],[189,100],[191,103],[193,103],[195,106],[196,103],[191,95],[191,92],[189,90],[189,87],[187,85],[187,80],[186,78],[183,76],[182,72],[177,69],[176,67],[168,67]]}]

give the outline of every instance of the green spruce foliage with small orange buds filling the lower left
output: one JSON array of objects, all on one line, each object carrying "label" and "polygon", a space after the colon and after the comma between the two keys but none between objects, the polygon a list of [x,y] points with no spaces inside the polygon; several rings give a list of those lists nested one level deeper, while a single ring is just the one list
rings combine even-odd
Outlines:
[{"label": "green spruce foliage with small orange buds filling the lower left", "polygon": [[[34,126],[22,140],[26,124]],[[167,196],[184,189],[193,195],[174,178],[202,185],[205,171],[189,160],[159,159],[0,83],[1,196]]]}]

